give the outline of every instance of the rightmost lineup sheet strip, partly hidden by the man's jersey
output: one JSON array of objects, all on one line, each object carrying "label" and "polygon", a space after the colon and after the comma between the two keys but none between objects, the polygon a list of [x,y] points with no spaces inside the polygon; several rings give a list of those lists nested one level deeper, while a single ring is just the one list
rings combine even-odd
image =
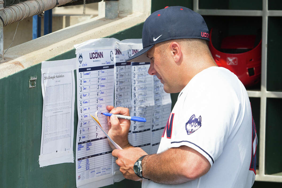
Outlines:
[{"label": "rightmost lineup sheet strip, partly hidden by the man's jersey", "polygon": [[162,133],[171,112],[170,94],[164,91],[164,85],[157,76],[154,78],[154,101],[151,129],[151,154],[157,153]]}]

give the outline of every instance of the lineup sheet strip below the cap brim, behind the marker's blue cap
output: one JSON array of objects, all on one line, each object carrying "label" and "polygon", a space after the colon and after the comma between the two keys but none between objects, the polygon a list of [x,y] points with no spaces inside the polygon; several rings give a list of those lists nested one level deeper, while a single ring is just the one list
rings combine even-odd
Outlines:
[{"label": "lineup sheet strip below the cap brim, behind the marker's blue cap", "polygon": [[150,67],[149,62],[133,62],[131,65],[131,116],[139,116],[146,118],[147,120],[146,122],[131,122],[132,145],[140,147],[145,152],[150,153],[151,122],[154,105],[153,76],[148,74],[148,69]]}]

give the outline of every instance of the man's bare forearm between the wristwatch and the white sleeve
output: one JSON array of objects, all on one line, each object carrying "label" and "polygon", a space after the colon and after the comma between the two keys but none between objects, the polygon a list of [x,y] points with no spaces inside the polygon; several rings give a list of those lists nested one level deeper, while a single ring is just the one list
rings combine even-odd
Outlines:
[{"label": "man's bare forearm between the wristwatch and the white sleeve", "polygon": [[187,146],[180,146],[148,155],[142,160],[143,176],[164,184],[179,184],[199,178],[208,172],[210,163],[208,169],[204,167],[206,164],[202,165],[194,151]]}]

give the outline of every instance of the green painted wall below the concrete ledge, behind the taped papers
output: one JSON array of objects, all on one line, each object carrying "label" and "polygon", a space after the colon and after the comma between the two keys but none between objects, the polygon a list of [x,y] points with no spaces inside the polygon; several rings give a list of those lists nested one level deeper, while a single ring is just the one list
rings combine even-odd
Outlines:
[{"label": "green painted wall below the concrete ledge, behind the taped papers", "polygon": [[[139,24],[109,37],[120,40],[141,38],[142,27],[143,24]],[[74,57],[75,49],[49,61]],[[34,88],[28,87],[30,76],[37,76]],[[43,110],[41,63],[0,79],[0,96],[0,187],[76,187],[75,163],[39,168]],[[75,152],[78,122],[76,101],[74,109]],[[123,180],[107,187],[124,186],[141,187],[141,183]]]}]

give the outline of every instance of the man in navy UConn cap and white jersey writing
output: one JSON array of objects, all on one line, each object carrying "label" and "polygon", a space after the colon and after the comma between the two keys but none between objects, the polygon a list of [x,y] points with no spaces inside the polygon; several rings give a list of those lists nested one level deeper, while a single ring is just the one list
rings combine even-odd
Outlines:
[{"label": "man in navy UConn cap and white jersey writing", "polygon": [[[235,74],[217,67],[208,37],[201,15],[181,6],[166,7],[146,19],[144,49],[128,59],[150,60],[148,73],[160,79],[166,92],[180,92],[157,154],[147,155],[128,143],[129,120],[114,115],[109,120],[109,136],[124,149],[113,150],[116,163],[125,178],[146,178],[142,187],[254,183],[257,138],[248,94]],[[129,116],[126,108],[107,109]]]}]

